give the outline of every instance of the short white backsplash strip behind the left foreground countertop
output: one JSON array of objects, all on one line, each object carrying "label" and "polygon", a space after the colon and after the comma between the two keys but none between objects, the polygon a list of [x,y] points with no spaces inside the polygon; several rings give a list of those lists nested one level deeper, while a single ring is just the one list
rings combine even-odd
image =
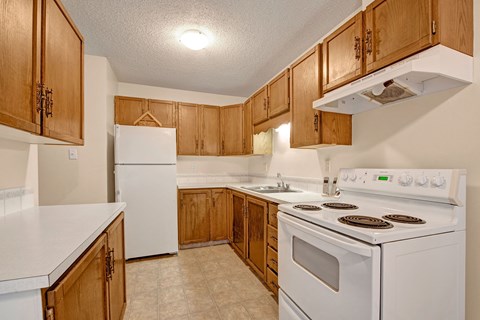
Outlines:
[{"label": "short white backsplash strip behind the left foreground countertop", "polygon": [[0,217],[32,208],[34,203],[33,189],[24,187],[0,189]]}]

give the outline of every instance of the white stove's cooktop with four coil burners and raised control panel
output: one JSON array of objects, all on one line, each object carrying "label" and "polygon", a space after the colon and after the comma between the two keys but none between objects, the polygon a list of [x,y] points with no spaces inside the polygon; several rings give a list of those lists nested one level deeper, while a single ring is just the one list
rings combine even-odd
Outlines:
[{"label": "white stove's cooktop with four coil burners and raised control panel", "polygon": [[[404,182],[399,178],[404,177],[404,173],[399,173],[400,170],[382,170],[381,173],[379,169],[348,170],[350,174],[351,170],[356,170],[355,176],[361,176],[362,179],[352,181],[348,175],[347,179],[342,178],[339,183],[342,195],[339,199],[302,203],[308,205],[310,210],[295,207],[298,203],[282,204],[279,211],[371,244],[465,229],[465,207],[461,204],[461,201],[465,201],[464,194],[462,195],[465,181],[460,181],[458,170],[442,171],[447,181],[443,188],[432,187],[430,184],[420,186],[413,181],[410,186],[399,187],[396,183]],[[341,174],[345,173],[344,169],[342,171]],[[433,173],[430,171],[422,170],[421,174],[427,177],[430,175],[428,180],[431,180],[431,175],[439,175],[438,170]],[[418,177],[417,170],[409,172],[412,175],[417,174]],[[388,177],[389,181],[376,180],[380,174],[381,177]],[[411,180],[414,179],[412,177]],[[383,186],[386,186],[387,190],[384,190]],[[416,192],[417,190],[419,192]],[[329,203],[332,205],[328,205]],[[312,206],[320,210],[311,210]],[[336,206],[341,209],[332,208]],[[413,217],[412,220],[417,223],[401,222],[410,219],[404,216]],[[395,218],[400,218],[401,221],[395,221]],[[356,225],[362,220],[377,228]]]}]

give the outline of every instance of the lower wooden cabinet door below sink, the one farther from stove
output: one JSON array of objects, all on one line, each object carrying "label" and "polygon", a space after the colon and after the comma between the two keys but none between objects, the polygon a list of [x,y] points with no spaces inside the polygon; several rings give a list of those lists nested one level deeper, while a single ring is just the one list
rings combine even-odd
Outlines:
[{"label": "lower wooden cabinet door below sink, the one farther from stove", "polygon": [[245,258],[246,248],[246,214],[245,214],[245,195],[232,191],[232,211],[233,211],[233,248],[238,254]]}]

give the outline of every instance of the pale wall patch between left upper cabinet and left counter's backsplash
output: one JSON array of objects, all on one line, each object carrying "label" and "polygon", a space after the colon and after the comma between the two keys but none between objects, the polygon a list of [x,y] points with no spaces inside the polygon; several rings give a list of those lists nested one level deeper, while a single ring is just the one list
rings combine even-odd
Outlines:
[{"label": "pale wall patch between left upper cabinet and left counter's backsplash", "polygon": [[38,148],[0,137],[0,189],[27,187],[38,203]]}]

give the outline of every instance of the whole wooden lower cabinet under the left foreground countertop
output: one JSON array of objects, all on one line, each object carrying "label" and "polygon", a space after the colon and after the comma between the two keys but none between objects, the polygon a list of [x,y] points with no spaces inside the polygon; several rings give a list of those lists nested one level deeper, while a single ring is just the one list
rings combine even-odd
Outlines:
[{"label": "whole wooden lower cabinet under the left foreground countertop", "polygon": [[47,319],[123,319],[126,307],[123,235],[122,213],[48,289]]}]

